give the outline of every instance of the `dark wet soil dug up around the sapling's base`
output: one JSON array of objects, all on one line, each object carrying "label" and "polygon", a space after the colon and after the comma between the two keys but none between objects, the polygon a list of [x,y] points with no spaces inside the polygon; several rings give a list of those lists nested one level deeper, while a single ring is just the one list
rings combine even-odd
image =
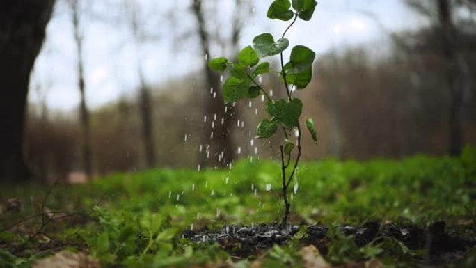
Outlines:
[{"label": "dark wet soil dug up around the sapling's base", "polygon": [[[308,225],[305,234],[299,235],[303,246],[312,244],[322,255],[328,254],[328,244],[333,237],[323,225]],[[274,244],[285,245],[298,234],[301,226],[281,228],[277,223],[257,226],[223,226],[220,230],[185,230],[182,237],[198,244],[218,242],[222,249],[239,258],[249,258]],[[343,235],[354,237],[357,246],[372,242],[379,244],[386,237],[402,242],[408,249],[425,250],[420,260],[434,265],[454,262],[465,258],[468,251],[476,248],[476,225],[449,226],[445,221],[436,221],[430,226],[399,225],[370,221],[362,226],[342,225]],[[425,260],[423,260],[425,259]]]}]

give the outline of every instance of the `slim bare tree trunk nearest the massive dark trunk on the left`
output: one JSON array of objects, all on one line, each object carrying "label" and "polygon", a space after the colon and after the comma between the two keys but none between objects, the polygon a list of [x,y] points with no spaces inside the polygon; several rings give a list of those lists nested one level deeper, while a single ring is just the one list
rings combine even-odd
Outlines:
[{"label": "slim bare tree trunk nearest the massive dark trunk on the left", "polygon": [[86,104],[86,83],[84,81],[84,58],[83,58],[83,34],[81,33],[81,7],[79,0],[69,0],[71,8],[71,19],[74,30],[74,42],[77,53],[77,79],[81,102],[79,104],[79,121],[82,129],[82,161],[84,172],[88,177],[93,173],[91,134],[88,105]]}]

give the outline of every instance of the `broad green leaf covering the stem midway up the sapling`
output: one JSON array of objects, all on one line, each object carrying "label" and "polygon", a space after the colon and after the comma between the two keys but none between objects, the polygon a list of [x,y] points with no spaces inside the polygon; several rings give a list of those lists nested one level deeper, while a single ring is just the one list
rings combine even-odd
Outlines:
[{"label": "broad green leaf covering the stem midway up the sapling", "polygon": [[267,102],[266,110],[273,116],[274,120],[283,124],[287,129],[296,127],[299,117],[303,111],[303,103],[299,99],[276,100],[276,102]]}]

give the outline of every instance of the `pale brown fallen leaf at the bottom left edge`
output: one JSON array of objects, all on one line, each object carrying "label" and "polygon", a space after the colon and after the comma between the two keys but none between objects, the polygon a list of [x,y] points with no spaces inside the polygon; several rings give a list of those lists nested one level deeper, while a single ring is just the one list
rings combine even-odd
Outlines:
[{"label": "pale brown fallen leaf at the bottom left edge", "polygon": [[61,251],[53,256],[37,260],[33,268],[100,268],[100,262],[85,253]]}]

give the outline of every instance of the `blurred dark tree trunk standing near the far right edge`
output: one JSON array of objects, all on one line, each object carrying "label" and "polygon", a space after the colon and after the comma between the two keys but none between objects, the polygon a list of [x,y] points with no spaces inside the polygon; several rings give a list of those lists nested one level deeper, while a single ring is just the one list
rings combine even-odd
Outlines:
[{"label": "blurred dark tree trunk standing near the far right edge", "polygon": [[462,122],[462,101],[463,85],[460,65],[458,64],[458,51],[455,39],[456,31],[452,24],[450,3],[448,0],[438,0],[438,17],[440,20],[440,31],[443,44],[443,56],[446,59],[447,86],[450,93],[450,104],[448,107],[448,127],[450,137],[450,155],[457,156],[463,148],[463,122]]}]

